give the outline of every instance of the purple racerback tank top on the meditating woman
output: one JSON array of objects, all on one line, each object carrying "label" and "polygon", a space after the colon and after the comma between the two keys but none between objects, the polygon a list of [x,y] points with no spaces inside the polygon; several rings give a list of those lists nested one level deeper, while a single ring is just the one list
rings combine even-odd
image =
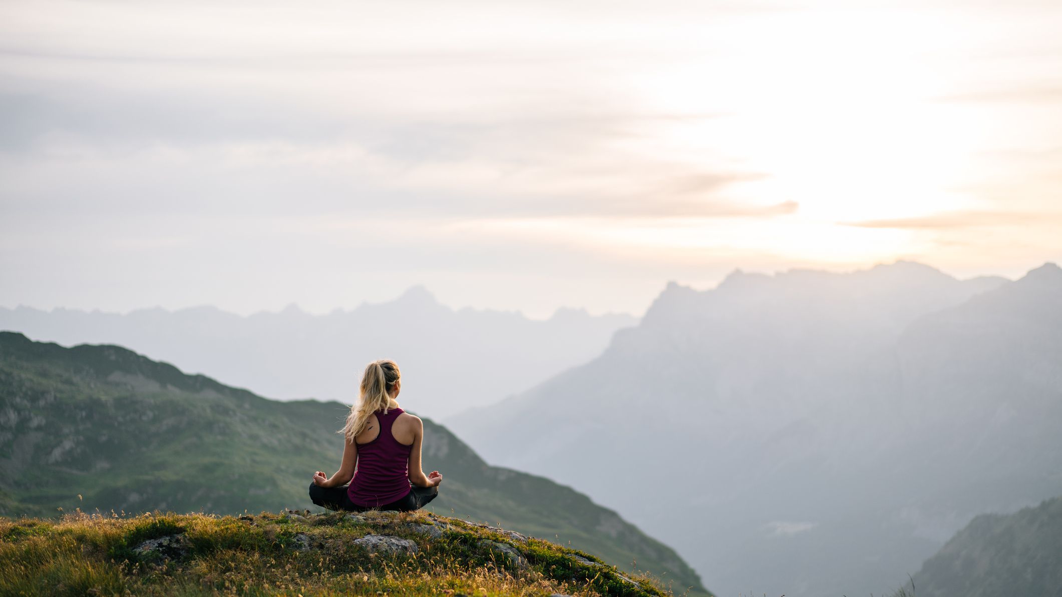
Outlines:
[{"label": "purple racerback tank top on the meditating woman", "polygon": [[398,443],[391,434],[391,426],[404,412],[400,408],[387,414],[376,411],[379,434],[369,443],[358,444],[358,471],[346,490],[350,501],[358,506],[383,506],[406,497],[410,491],[409,453],[413,446]]}]

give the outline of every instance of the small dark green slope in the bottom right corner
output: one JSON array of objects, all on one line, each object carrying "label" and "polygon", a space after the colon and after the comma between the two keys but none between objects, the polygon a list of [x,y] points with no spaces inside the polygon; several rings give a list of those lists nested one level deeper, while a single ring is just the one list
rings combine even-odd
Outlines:
[{"label": "small dark green slope in the bottom right corner", "polygon": [[912,582],[921,597],[1062,597],[1062,497],[977,516]]}]

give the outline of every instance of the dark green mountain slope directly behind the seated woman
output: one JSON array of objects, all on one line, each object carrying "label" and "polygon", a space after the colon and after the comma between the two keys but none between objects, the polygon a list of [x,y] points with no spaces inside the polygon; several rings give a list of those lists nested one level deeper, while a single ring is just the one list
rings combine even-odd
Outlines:
[{"label": "dark green mountain slope directly behind the seated woman", "polygon": [[[269,400],[118,346],[64,348],[0,332],[0,514],[310,508],[309,474],[338,465],[335,431],[346,409]],[[548,479],[489,466],[425,424],[425,466],[446,477],[434,511],[570,543],[679,592],[703,591],[673,550],[615,512]]]}]

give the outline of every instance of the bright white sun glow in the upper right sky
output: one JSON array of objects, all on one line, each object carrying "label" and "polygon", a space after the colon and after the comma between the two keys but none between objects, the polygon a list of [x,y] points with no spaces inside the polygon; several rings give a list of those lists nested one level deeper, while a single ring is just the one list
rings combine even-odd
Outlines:
[{"label": "bright white sun glow in the upper right sky", "polygon": [[[925,16],[842,16],[729,23],[713,32],[716,47],[699,59],[636,81],[651,109],[716,115],[662,125],[652,151],[691,164],[725,157],[733,167],[764,173],[735,185],[730,195],[798,202],[789,224],[816,232],[787,233],[794,244],[821,235],[823,223],[924,216],[971,201],[955,187],[981,127],[971,114],[935,102],[948,91],[930,59],[950,42],[947,28]],[[898,48],[897,38],[904,39]]]}]

